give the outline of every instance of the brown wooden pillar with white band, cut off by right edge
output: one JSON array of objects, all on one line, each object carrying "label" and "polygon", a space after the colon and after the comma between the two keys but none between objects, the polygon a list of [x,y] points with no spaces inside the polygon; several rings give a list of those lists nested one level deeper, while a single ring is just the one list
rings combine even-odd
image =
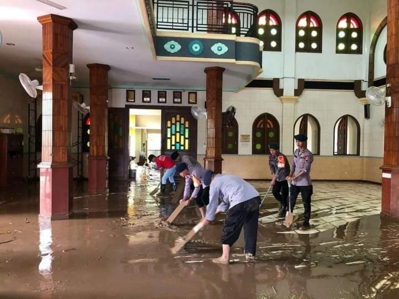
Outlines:
[{"label": "brown wooden pillar with white band, cut off by right edge", "polygon": [[385,107],[382,214],[399,217],[399,0],[388,0],[387,84],[392,106]]}]

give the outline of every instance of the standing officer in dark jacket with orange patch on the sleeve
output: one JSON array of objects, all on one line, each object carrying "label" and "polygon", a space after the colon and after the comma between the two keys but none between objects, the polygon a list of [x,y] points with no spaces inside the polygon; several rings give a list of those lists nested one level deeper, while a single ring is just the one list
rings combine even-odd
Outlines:
[{"label": "standing officer in dark jacket with orange patch on the sleeve", "polygon": [[284,218],[288,206],[288,182],[286,177],[290,173],[290,164],[286,155],[280,153],[277,143],[269,144],[271,155],[269,155],[269,167],[273,179],[270,185],[273,186],[273,196],[280,203],[278,217]]}]

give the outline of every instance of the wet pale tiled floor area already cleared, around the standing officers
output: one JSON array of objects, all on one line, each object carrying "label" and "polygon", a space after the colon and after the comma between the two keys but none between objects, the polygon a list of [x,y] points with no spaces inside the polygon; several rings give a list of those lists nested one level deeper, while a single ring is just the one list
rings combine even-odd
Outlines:
[{"label": "wet pale tiled floor area already cleared, around the standing officers", "polygon": [[[267,182],[251,182],[255,188],[265,195]],[[277,203],[273,195],[268,195],[265,206]],[[269,205],[267,205],[269,203]],[[381,212],[381,186],[369,183],[348,182],[314,182],[312,195],[311,229],[306,231],[296,230],[296,224],[291,229],[283,230],[281,234],[314,234],[342,226],[348,222],[356,221],[363,216],[379,214]],[[266,216],[259,218],[263,224],[273,224],[280,221],[277,218],[278,208],[262,209]],[[304,209],[300,195],[298,196],[294,215],[296,220],[301,220]]]}]

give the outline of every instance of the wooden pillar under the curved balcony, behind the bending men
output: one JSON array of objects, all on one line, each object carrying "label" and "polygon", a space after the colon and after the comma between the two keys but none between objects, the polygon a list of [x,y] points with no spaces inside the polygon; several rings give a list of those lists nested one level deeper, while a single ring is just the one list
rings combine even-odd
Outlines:
[{"label": "wooden pillar under the curved balcony, behind the bending men", "polygon": [[205,168],[217,173],[222,172],[222,85],[223,67],[207,67],[206,106],[207,136]]}]

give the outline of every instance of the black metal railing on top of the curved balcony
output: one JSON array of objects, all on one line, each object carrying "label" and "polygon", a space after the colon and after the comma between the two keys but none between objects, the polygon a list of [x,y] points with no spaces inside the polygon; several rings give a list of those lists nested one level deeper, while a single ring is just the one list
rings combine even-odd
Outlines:
[{"label": "black metal railing on top of the curved balcony", "polygon": [[153,0],[156,28],[258,37],[258,8],[249,3]]}]

